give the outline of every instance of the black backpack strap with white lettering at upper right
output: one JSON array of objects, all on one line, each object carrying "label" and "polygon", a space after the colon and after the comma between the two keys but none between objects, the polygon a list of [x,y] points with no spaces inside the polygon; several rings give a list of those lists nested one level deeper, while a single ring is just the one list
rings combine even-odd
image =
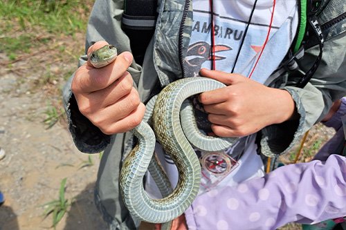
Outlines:
[{"label": "black backpack strap with white lettering at upper right", "polygon": [[[343,7],[345,0],[300,0],[299,6],[300,26],[295,40],[293,40],[293,46],[291,46],[286,61],[282,63],[281,67],[284,67],[292,77],[298,77],[298,82],[295,85],[304,88],[320,64],[325,39],[331,39],[331,37],[345,32],[345,29],[340,29],[340,26],[336,25],[346,21],[346,8]],[[306,9],[306,28],[303,32],[304,7]],[[304,37],[300,43],[303,34]],[[318,57],[309,70],[304,72],[299,66],[299,59],[304,56],[304,50],[316,45],[320,50]]]}]

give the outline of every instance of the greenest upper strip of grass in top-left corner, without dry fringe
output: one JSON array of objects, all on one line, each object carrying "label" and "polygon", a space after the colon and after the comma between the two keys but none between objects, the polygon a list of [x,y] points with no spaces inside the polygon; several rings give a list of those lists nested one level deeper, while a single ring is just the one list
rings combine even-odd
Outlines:
[{"label": "greenest upper strip of grass in top-left corner, without dry fringe", "polygon": [[[17,21],[21,30],[33,26],[44,28],[53,34],[73,34],[86,26],[87,3],[75,0],[5,0],[0,1],[0,19]],[[6,23],[6,30],[12,29]]]}]

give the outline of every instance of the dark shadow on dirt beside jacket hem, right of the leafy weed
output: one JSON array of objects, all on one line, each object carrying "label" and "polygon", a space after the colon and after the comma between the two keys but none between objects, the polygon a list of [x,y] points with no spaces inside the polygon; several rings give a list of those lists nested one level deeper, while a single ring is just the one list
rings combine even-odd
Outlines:
[{"label": "dark shadow on dirt beside jacket hem, right of the leafy weed", "polygon": [[93,200],[94,187],[95,183],[88,184],[85,189],[75,197],[71,209],[66,217],[64,230],[108,229],[107,224],[102,220],[102,216],[95,206]]}]

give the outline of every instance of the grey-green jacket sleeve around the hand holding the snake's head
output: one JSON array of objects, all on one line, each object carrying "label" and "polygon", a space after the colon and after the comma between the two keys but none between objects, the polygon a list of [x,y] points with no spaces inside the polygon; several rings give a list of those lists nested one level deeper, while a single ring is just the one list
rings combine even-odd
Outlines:
[{"label": "grey-green jacket sleeve around the hand holding the snake's head", "polygon": [[[123,0],[95,1],[87,25],[85,50],[88,50],[89,46],[96,41],[107,41],[109,44],[116,46],[118,52],[131,51],[129,39],[121,29],[123,5]],[[86,61],[86,55],[82,55],[78,66]],[[141,67],[134,61],[128,71],[134,78],[134,82],[138,82]],[[80,151],[98,153],[111,142],[111,135],[102,133],[99,128],[80,113],[71,91],[72,79],[73,76],[66,82],[63,90],[64,108],[69,122],[69,130],[75,145]]]}]

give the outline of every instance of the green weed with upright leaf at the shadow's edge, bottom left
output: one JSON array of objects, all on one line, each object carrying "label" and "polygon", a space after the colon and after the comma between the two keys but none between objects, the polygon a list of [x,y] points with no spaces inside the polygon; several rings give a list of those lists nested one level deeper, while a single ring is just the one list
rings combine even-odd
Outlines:
[{"label": "green weed with upright leaf at the shadow's edge, bottom left", "polygon": [[59,199],[44,204],[46,207],[44,210],[44,217],[46,218],[48,215],[53,215],[52,227],[54,229],[57,227],[57,224],[60,222],[60,220],[62,220],[67,209],[69,209],[72,204],[72,202],[69,202],[69,200],[65,198],[66,180],[67,179],[64,178],[60,182]]}]

